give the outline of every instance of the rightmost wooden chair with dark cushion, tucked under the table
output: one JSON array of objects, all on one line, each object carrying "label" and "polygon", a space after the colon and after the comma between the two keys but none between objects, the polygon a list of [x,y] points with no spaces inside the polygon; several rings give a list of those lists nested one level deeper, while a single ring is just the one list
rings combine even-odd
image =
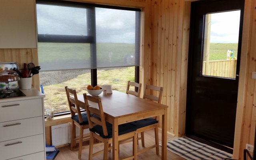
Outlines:
[{"label": "rightmost wooden chair with dark cushion, tucked under the table", "polygon": [[[148,90],[150,90],[151,94],[147,94]],[[158,96],[152,95],[152,91],[159,92]],[[162,99],[162,92],[163,92],[163,88],[162,87],[146,85],[146,87],[144,88],[143,98],[146,98],[146,99],[149,99],[149,100],[153,100],[153,101],[156,101],[157,103],[160,103],[161,99]],[[154,130],[155,130],[155,142],[156,143],[154,145],[152,145],[152,146],[149,146],[147,148],[144,148],[143,150],[138,151],[137,154],[143,153],[143,152],[145,152],[147,150],[150,150],[152,148],[156,148],[156,154],[159,155],[158,119],[159,119],[159,117],[157,116],[157,117],[154,117],[154,118],[146,118],[146,119],[143,119],[143,120],[138,120],[138,121],[130,122],[130,124],[137,126],[137,135],[138,135],[138,133],[141,134],[141,137],[138,138],[138,140],[141,139],[143,147],[145,147],[144,131],[152,129],[152,128],[154,128]]]}]

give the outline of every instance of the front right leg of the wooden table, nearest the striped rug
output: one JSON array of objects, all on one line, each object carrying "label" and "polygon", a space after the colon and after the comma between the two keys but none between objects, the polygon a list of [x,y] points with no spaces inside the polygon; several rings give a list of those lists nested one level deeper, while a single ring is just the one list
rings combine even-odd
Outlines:
[{"label": "front right leg of the wooden table, nearest the striped rug", "polygon": [[162,115],[162,160],[167,158],[167,108]]}]

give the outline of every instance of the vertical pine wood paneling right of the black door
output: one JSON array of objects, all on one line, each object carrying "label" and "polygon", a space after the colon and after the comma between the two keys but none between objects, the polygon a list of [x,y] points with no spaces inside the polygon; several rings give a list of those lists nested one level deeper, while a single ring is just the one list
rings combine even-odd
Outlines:
[{"label": "vertical pine wood paneling right of the black door", "polygon": [[[245,0],[244,6],[244,25],[243,25],[243,35],[242,35],[242,52],[240,61],[240,75],[239,75],[239,86],[238,86],[238,103],[236,108],[236,127],[235,127],[235,137],[234,137],[234,153],[233,156],[236,159],[242,159],[243,150],[246,147],[245,144],[249,143],[248,135],[250,134],[250,124],[248,120],[252,117],[248,116],[247,110],[252,111],[252,104],[248,103],[248,98],[252,98],[248,95],[248,88],[250,90],[252,84],[248,83],[248,79],[251,78],[251,74],[248,70],[252,70],[249,67],[249,57],[250,54],[256,52],[256,50],[251,50],[251,45],[255,46],[255,34],[251,34],[253,28],[252,23],[255,23],[255,0]],[[254,25],[255,27],[255,25]],[[255,28],[254,28],[255,30]],[[255,71],[255,68],[254,68]],[[250,80],[249,80],[250,81]],[[254,90],[255,92],[255,90]],[[252,102],[252,101],[251,101]],[[249,113],[250,114],[250,113]],[[250,123],[250,122],[249,122]],[[250,136],[254,138],[254,134]],[[253,142],[250,142],[253,144]]]}]

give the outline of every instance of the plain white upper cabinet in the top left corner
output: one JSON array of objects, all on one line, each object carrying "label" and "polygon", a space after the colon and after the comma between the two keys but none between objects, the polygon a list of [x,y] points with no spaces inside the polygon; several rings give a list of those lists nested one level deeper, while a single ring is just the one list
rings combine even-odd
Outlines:
[{"label": "plain white upper cabinet in the top left corner", "polygon": [[0,0],[0,48],[37,48],[35,0]]}]

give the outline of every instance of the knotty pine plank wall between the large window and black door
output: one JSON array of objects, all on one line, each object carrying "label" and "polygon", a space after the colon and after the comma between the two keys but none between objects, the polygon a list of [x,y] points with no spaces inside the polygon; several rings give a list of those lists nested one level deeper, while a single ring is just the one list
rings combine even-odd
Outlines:
[{"label": "knotty pine plank wall between the large window and black door", "polygon": [[176,136],[185,133],[189,11],[190,4],[183,0],[152,1],[152,47],[149,58],[144,58],[149,64],[144,72],[150,73],[148,78],[144,74],[144,83],[164,88],[168,131]]}]

